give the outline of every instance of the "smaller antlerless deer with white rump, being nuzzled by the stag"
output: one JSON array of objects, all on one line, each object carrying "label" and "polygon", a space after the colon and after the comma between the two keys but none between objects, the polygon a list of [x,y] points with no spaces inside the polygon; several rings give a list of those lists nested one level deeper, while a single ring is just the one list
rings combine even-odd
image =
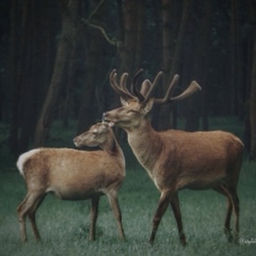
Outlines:
[{"label": "smaller antlerless deer with white rump, being nuzzled by the stag", "polygon": [[35,238],[40,239],[35,213],[49,192],[64,200],[91,198],[89,237],[92,240],[95,239],[100,196],[107,194],[119,235],[124,238],[117,191],[125,176],[125,160],[110,127],[111,123],[95,124],[73,140],[77,147],[100,146],[103,150],[32,149],[21,154],[17,166],[27,187],[27,193],[17,208],[22,241],[27,238],[26,216]]}]

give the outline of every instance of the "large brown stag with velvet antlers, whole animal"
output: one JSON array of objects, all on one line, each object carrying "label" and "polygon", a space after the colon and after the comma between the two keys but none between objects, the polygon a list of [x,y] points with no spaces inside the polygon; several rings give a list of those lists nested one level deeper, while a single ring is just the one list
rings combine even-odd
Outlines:
[{"label": "large brown stag with velvet antlers, whole animal", "polygon": [[185,99],[199,85],[192,81],[189,88],[177,97],[171,97],[178,82],[175,75],[163,99],[150,98],[161,72],[153,83],[145,80],[142,89],[136,87],[135,75],[131,93],[126,88],[127,73],[122,74],[119,85],[116,71],[110,73],[110,84],[121,96],[122,107],[104,113],[106,121],[114,122],[128,135],[128,143],[139,162],[147,170],[156,188],[161,192],[156,212],[152,220],[149,242],[152,243],[157,227],[170,202],[182,244],[186,244],[178,191],[182,189],[212,189],[228,198],[228,212],[225,221],[225,233],[231,235],[231,215],[235,210],[235,240],[238,237],[239,201],[236,193],[243,145],[233,134],[223,131],[185,132],[168,130],[156,132],[149,122],[149,111],[153,104],[165,105]]}]

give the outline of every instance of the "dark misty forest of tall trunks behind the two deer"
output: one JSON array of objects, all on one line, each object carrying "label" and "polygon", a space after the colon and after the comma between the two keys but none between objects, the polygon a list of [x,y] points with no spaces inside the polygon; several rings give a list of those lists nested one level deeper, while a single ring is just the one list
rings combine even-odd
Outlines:
[{"label": "dark misty forest of tall trunks behind the two deer", "polygon": [[[109,73],[163,77],[152,97],[163,97],[174,74],[174,93],[192,80],[201,92],[172,106],[155,107],[157,130],[209,130],[209,119],[235,116],[256,159],[255,0],[2,0],[0,142],[15,155],[44,147],[55,121],[79,134],[120,105]],[[122,136],[120,132],[120,139]],[[70,138],[71,140],[72,138]]]}]

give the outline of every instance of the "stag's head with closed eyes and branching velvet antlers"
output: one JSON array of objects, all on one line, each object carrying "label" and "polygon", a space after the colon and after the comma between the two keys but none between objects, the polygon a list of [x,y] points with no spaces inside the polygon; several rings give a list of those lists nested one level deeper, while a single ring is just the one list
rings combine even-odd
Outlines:
[{"label": "stag's head with closed eyes and branching velvet antlers", "polygon": [[123,128],[136,127],[140,124],[141,120],[149,115],[149,111],[153,105],[167,105],[178,101],[181,101],[194,92],[199,91],[201,88],[195,82],[192,81],[190,86],[181,94],[176,97],[172,97],[172,93],[179,81],[179,75],[174,75],[168,90],[162,99],[155,99],[150,97],[152,90],[157,84],[159,78],[162,76],[162,72],[158,72],[153,82],[146,79],[142,83],[141,90],[137,87],[137,79],[142,73],[143,69],[140,69],[133,77],[131,84],[131,92],[127,89],[126,82],[128,73],[123,73],[120,77],[119,84],[117,83],[116,70],[113,69],[109,75],[110,85],[113,90],[120,96],[122,107],[113,109],[104,113],[104,119],[114,122],[117,126]]}]

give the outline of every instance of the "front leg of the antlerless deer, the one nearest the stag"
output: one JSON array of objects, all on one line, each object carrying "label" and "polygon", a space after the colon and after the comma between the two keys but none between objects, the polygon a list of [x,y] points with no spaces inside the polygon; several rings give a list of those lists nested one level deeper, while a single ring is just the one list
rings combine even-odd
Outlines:
[{"label": "front leg of the antlerless deer, the one nearest the stag", "polygon": [[124,239],[125,235],[124,235],[123,225],[122,225],[122,214],[120,211],[117,194],[116,192],[110,192],[110,193],[107,193],[107,197],[108,197],[114,218],[117,222],[118,233],[120,237]]}]

